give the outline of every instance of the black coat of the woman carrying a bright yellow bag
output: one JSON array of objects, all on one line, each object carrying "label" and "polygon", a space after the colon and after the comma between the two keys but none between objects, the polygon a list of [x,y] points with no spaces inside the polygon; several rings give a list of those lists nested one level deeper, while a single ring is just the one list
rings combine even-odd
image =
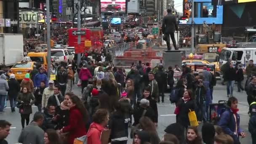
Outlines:
[{"label": "black coat of the woman carrying a bright yellow bag", "polygon": [[178,123],[180,123],[185,128],[187,128],[190,125],[189,116],[188,116],[189,109],[191,109],[191,111],[195,110],[195,101],[190,99],[185,103],[182,99],[180,99],[180,101],[178,102],[178,107],[179,107]]}]

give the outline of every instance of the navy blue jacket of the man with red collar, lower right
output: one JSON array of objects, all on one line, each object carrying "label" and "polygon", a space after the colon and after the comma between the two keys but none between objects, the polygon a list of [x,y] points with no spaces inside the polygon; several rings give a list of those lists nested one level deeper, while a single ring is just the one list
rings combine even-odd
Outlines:
[{"label": "navy blue jacket of the man with red collar, lower right", "polygon": [[230,108],[228,108],[220,117],[218,125],[222,128],[225,134],[232,136],[234,140],[234,144],[240,144],[239,142],[239,134],[243,132],[240,129],[240,116],[236,114],[237,119],[237,135],[235,134],[235,117],[233,116],[233,112]]}]

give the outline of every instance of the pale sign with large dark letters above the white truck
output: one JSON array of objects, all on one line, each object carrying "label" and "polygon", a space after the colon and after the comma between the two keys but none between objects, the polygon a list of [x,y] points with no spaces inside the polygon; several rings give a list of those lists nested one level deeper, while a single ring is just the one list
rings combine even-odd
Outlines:
[{"label": "pale sign with large dark letters above the white truck", "polygon": [[20,24],[37,24],[37,12],[19,11]]}]

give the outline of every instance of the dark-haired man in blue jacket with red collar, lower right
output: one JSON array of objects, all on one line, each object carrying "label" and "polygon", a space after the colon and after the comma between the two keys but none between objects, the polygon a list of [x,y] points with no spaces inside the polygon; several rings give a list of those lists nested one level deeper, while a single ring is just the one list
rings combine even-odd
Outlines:
[{"label": "dark-haired man in blue jacket with red collar, lower right", "polygon": [[227,109],[222,113],[218,125],[222,128],[225,134],[230,135],[234,144],[240,144],[239,136],[245,137],[245,133],[240,129],[240,115],[237,114],[238,100],[235,97],[230,97],[227,101]]}]

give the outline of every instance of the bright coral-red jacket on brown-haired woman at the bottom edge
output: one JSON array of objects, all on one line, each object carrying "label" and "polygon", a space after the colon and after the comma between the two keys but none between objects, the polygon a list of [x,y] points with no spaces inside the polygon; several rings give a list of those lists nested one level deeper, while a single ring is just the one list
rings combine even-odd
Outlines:
[{"label": "bright coral-red jacket on brown-haired woman at the bottom edge", "polygon": [[98,123],[91,123],[87,133],[87,144],[101,144],[101,132],[104,127]]}]

